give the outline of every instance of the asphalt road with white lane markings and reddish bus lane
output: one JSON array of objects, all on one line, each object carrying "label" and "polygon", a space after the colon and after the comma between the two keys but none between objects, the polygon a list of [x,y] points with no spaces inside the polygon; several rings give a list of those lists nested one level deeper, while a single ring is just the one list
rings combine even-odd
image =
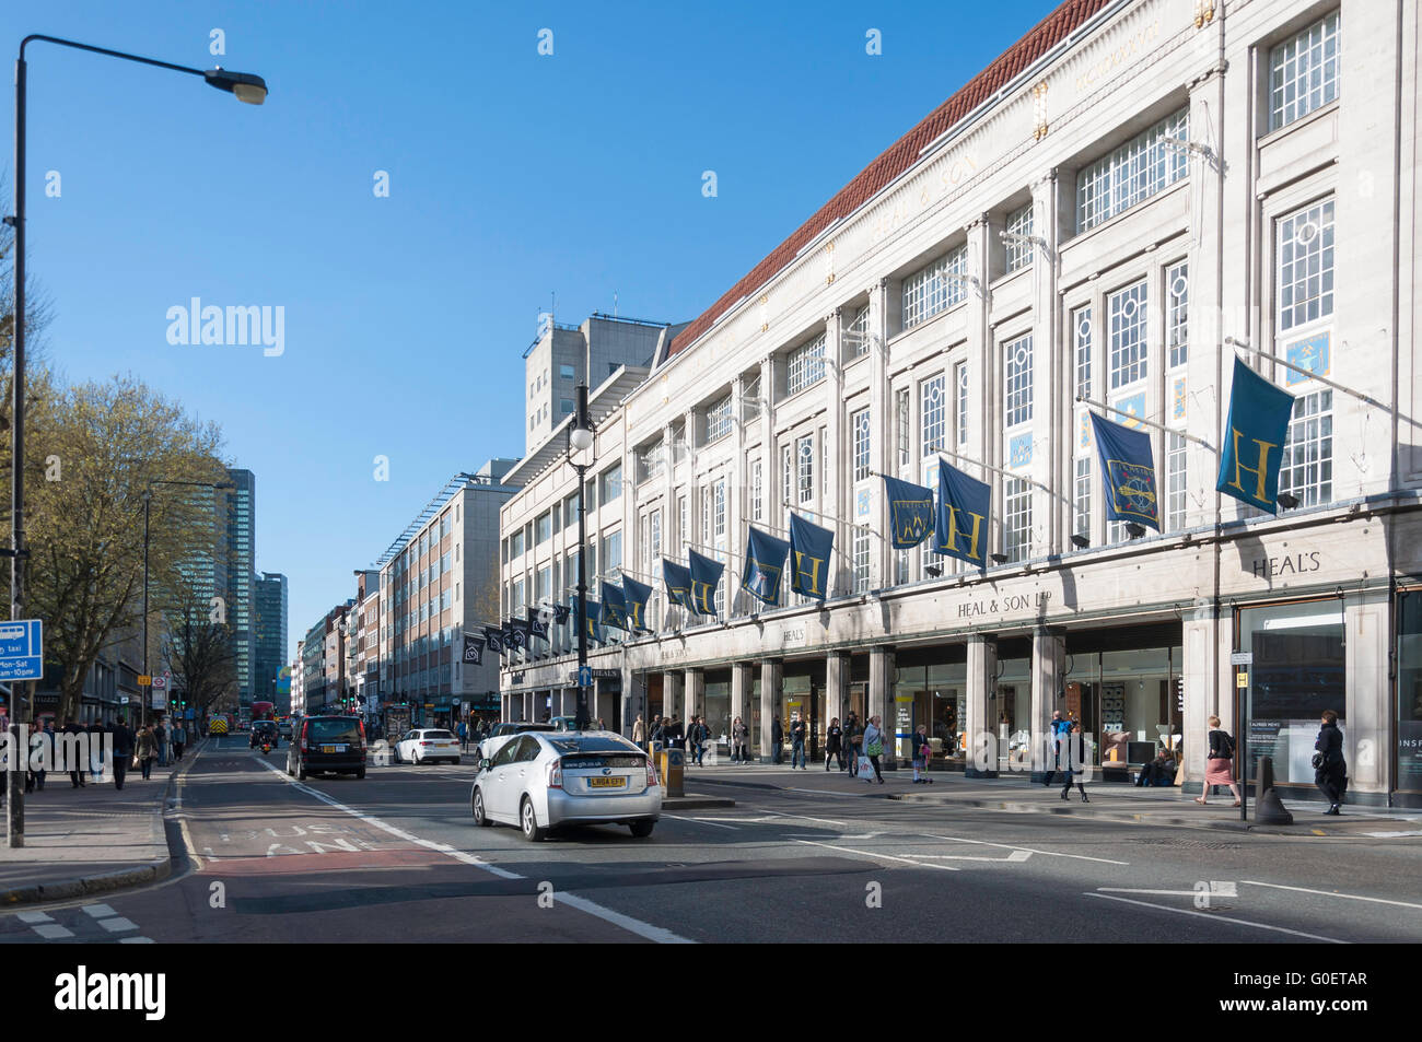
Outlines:
[{"label": "asphalt road with white lane markings and reddish bus lane", "polygon": [[[476,829],[474,765],[284,773],[210,741],[169,810],[173,877],[0,914],[0,944],[269,941],[1280,942],[1422,940],[1422,840],[1284,837],[694,773],[737,806],[648,839]],[[805,780],[802,780],[805,779]]]}]

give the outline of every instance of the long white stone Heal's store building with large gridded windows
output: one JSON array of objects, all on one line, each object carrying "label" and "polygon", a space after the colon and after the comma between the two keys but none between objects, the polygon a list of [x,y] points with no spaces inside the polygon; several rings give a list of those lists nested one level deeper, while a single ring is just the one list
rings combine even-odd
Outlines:
[{"label": "long white stone Heal's store building with large gridded windows", "polygon": [[[717,620],[658,604],[594,645],[594,712],[742,716],[765,755],[772,716],[855,709],[1010,769],[1062,709],[1102,766],[1179,735],[1194,792],[1217,714],[1310,796],[1332,708],[1349,800],[1422,802],[1418,30],[1371,0],[1069,0],[912,128],[594,395],[599,567],[728,563]],[[1297,398],[1277,516],[1216,490],[1236,354]],[[1078,398],[1142,421],[1160,535],[1105,522]],[[529,429],[505,604],[576,554],[562,434]],[[984,570],[883,539],[879,475],[933,486],[943,452],[991,485]],[[835,532],[829,596],[762,607],[739,554],[786,503]],[[506,662],[506,716],[566,711],[567,647]]]}]

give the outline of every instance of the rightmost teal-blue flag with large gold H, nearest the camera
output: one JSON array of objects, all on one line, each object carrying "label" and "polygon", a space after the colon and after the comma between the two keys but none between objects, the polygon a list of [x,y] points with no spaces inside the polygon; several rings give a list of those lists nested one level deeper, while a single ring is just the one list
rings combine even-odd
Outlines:
[{"label": "rightmost teal-blue flag with large gold H, nearest the camera", "polygon": [[1214,488],[1260,510],[1278,513],[1278,466],[1293,415],[1294,395],[1274,387],[1236,355],[1230,422]]}]

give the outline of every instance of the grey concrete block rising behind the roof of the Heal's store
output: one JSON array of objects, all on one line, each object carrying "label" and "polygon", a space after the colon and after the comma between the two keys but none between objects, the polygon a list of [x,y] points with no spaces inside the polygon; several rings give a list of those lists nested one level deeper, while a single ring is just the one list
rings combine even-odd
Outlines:
[{"label": "grey concrete block rising behind the roof of the Heal's store", "polygon": [[[675,334],[683,327],[670,327]],[[650,367],[670,337],[665,323],[593,314],[582,326],[560,326],[549,317],[523,353],[528,385],[526,446],[547,439],[573,411],[573,388],[584,380],[596,387],[621,365]]]}]

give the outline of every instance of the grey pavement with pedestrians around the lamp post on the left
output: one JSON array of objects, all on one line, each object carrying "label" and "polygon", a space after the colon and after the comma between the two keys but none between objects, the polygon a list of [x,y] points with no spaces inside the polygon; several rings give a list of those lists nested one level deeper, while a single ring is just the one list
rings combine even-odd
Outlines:
[{"label": "grey pavement with pedestrians around the lamp post on the left", "polygon": [[141,770],[129,770],[122,790],[91,775],[77,789],[68,775],[50,772],[44,789],[24,797],[24,846],[11,850],[0,837],[0,908],[166,879],[172,856],[164,809],[175,776],[196,756],[155,765],[146,782]]}]

